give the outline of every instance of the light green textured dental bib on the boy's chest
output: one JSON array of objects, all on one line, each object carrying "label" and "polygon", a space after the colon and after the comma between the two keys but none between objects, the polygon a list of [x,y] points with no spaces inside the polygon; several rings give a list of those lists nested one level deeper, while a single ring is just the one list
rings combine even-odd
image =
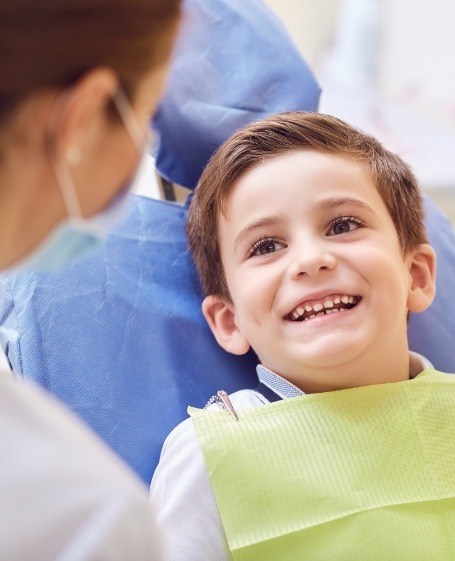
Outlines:
[{"label": "light green textured dental bib on the boy's chest", "polygon": [[455,559],[455,376],[189,412],[235,561]]}]

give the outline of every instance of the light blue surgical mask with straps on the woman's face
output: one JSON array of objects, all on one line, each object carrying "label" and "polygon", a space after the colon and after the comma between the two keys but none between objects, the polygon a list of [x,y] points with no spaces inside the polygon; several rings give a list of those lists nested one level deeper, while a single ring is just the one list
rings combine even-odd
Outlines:
[{"label": "light blue surgical mask with straps on the woman's face", "polygon": [[67,218],[57,224],[32,253],[15,264],[12,267],[14,271],[50,271],[87,257],[104,244],[108,233],[122,217],[137,172],[147,154],[148,143],[144,142],[136,116],[122,90],[115,95],[114,103],[132,141],[142,154],[133,180],[102,211],[84,218],[80,212],[77,191],[68,164],[62,161],[53,162],[67,209]]}]

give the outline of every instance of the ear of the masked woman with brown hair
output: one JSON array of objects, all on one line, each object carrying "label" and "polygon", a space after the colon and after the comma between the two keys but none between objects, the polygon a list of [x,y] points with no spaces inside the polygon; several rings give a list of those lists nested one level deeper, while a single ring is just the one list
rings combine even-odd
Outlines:
[{"label": "ear of the masked woman with brown hair", "polygon": [[54,149],[69,164],[82,159],[84,148],[106,123],[106,109],[118,88],[109,68],[95,68],[63,92],[52,111],[49,132]]}]

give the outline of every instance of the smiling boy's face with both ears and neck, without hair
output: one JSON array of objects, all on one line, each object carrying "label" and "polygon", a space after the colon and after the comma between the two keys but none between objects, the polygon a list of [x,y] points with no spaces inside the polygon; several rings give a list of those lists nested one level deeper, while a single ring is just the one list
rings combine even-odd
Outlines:
[{"label": "smiling boy's face with both ears and neck, without hair", "polygon": [[254,167],[225,201],[219,240],[232,303],[203,309],[226,350],[251,345],[306,391],[407,364],[407,312],[431,302],[434,257],[426,244],[403,257],[359,163],[295,150]]}]

